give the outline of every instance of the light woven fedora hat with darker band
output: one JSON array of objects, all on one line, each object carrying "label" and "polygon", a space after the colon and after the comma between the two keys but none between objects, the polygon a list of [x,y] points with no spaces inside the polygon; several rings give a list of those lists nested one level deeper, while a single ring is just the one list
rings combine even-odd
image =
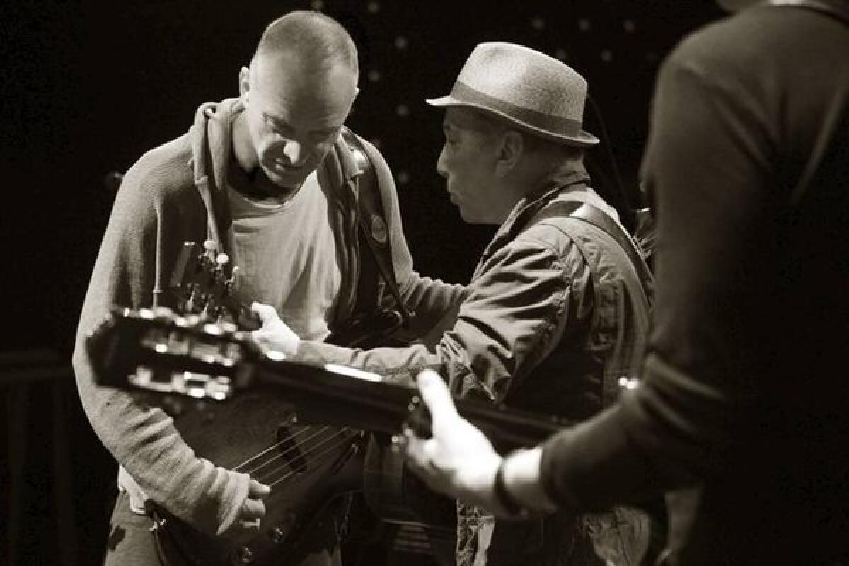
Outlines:
[{"label": "light woven fedora hat with darker band", "polygon": [[507,120],[554,142],[588,147],[599,138],[582,130],[587,81],[569,65],[522,45],[480,43],[433,106],[466,106]]}]

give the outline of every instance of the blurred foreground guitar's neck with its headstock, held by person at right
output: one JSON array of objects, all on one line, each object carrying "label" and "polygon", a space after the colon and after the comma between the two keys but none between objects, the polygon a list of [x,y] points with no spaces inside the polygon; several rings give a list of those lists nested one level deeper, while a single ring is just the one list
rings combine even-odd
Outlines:
[{"label": "blurred foreground guitar's neck with its headstock, held by person at right", "polygon": [[[430,414],[413,387],[334,364],[262,352],[250,334],[173,315],[115,307],[87,337],[98,384],[195,400],[227,401],[264,388],[297,407],[301,421],[396,434],[408,424],[430,433]],[[136,371],[137,368],[143,371]],[[572,423],[485,401],[455,400],[458,412],[499,450],[535,446]]]}]

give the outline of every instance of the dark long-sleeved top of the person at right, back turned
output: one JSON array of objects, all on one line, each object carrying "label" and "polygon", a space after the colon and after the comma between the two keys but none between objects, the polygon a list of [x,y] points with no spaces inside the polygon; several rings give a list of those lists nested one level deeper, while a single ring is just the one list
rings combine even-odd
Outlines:
[{"label": "dark long-sleeved top of the person at right, back turned", "polygon": [[758,6],[689,36],[658,78],[644,177],[642,384],[548,441],[544,485],[576,508],[678,490],[670,563],[846,559],[849,25]]}]

